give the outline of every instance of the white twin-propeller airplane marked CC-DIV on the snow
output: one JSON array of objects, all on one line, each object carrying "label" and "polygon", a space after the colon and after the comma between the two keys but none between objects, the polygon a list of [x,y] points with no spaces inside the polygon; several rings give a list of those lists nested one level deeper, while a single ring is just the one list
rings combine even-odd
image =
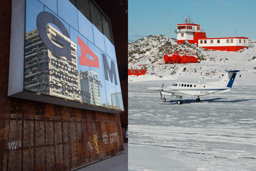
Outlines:
[{"label": "white twin-propeller airplane marked CC-DIV on the snow", "polygon": [[218,82],[208,82],[208,83],[193,83],[193,82],[176,82],[172,86],[166,88],[162,87],[150,87],[148,90],[160,91],[161,96],[164,95],[163,102],[166,102],[165,96],[176,96],[179,98],[178,104],[181,105],[181,98],[186,97],[198,97],[196,102],[200,101],[200,96],[224,93],[230,91],[234,80],[236,78],[236,73],[240,70],[225,70],[226,74]]}]

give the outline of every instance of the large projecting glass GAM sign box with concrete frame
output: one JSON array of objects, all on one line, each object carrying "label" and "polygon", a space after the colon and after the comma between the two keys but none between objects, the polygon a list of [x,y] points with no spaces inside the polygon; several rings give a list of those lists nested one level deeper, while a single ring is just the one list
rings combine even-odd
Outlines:
[{"label": "large projecting glass GAM sign box with concrete frame", "polygon": [[[96,7],[93,1],[86,3]],[[15,81],[10,78],[10,96],[110,113],[124,110],[111,24],[102,12],[97,13],[102,15],[97,18],[90,14],[90,19],[67,0],[26,0],[23,13],[23,88],[12,86]],[[98,18],[102,20],[96,21]],[[12,21],[11,48],[18,46],[12,37],[21,39],[21,33],[14,28],[18,22]],[[10,63],[15,62],[15,50],[10,54]],[[14,65],[10,66],[10,75],[22,68]]]}]

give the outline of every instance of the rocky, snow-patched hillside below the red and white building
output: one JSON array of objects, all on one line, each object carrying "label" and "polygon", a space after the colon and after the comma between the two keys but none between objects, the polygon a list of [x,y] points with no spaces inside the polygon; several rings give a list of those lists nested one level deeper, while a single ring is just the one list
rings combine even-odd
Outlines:
[{"label": "rocky, snow-patched hillside below the red and white building", "polygon": [[[256,41],[251,39],[253,44]],[[158,64],[168,52],[194,51],[199,59],[196,64]],[[177,44],[164,35],[150,35],[128,44],[128,69],[146,69],[146,74],[170,79],[187,78],[187,74],[199,78],[220,78],[226,69],[246,69],[240,77],[249,74],[256,82],[256,47],[242,49],[237,52],[214,51],[198,47],[196,44]],[[155,78],[155,77],[154,77]]]}]

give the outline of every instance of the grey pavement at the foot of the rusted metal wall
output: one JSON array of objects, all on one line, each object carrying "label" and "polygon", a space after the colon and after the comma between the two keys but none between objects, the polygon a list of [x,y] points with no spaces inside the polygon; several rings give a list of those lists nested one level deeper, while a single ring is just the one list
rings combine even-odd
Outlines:
[{"label": "grey pavement at the foot of the rusted metal wall", "polygon": [[123,143],[121,154],[84,166],[75,171],[128,171],[128,143]]}]

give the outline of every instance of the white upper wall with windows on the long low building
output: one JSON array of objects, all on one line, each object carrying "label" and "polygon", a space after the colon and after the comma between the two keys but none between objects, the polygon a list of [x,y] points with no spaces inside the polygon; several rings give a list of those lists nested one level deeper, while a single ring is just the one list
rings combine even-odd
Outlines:
[{"label": "white upper wall with windows on the long low building", "polygon": [[[229,39],[229,43],[227,43],[227,39]],[[233,43],[230,40],[233,39]],[[239,39],[241,39],[241,43],[239,43]],[[203,43],[200,41],[203,40]],[[205,43],[207,40],[207,43]],[[213,40],[213,43],[210,43]],[[217,43],[217,40],[220,40],[220,43]],[[245,43],[244,43],[245,40]],[[199,47],[207,47],[207,46],[248,46],[248,39],[244,38],[219,38],[219,39],[199,39],[198,40]]]}]

